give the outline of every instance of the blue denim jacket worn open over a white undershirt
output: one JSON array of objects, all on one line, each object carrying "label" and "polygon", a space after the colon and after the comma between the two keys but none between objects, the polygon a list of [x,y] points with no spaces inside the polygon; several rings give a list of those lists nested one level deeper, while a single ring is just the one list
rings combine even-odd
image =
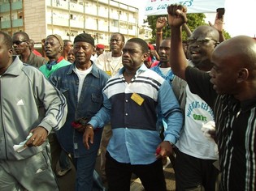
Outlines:
[{"label": "blue denim jacket worn open over a white undershirt", "polygon": [[63,66],[50,76],[50,82],[63,93],[67,99],[67,121],[63,128],[56,131],[59,143],[63,149],[75,157],[82,157],[98,150],[102,129],[94,134],[94,143],[87,150],[83,143],[83,133],[72,127],[72,122],[81,117],[91,118],[102,107],[102,89],[109,76],[93,64],[93,69],[85,77],[80,100],[77,100],[79,79],[75,73],[75,63]]}]

